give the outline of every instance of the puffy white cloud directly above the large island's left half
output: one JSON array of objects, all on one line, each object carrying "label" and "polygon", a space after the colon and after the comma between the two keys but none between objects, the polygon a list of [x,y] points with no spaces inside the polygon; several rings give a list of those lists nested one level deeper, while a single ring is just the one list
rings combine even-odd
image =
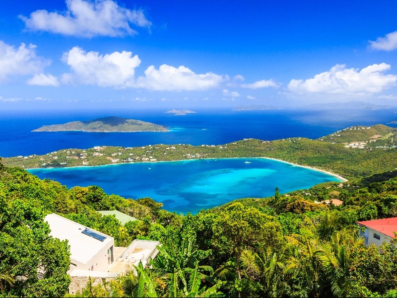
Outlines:
[{"label": "puffy white cloud directly above the large island's left half", "polygon": [[73,47],[64,53],[64,62],[71,73],[62,75],[63,83],[96,84],[101,87],[124,88],[133,84],[135,68],[140,64],[132,52],[113,52],[100,55],[98,52],[85,52]]}]

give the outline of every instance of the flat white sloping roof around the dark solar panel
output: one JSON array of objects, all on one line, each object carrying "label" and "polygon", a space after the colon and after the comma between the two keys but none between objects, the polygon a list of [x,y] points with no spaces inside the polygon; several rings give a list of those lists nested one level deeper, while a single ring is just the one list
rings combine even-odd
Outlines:
[{"label": "flat white sloping roof around the dark solar panel", "polygon": [[61,240],[68,240],[68,244],[70,245],[70,258],[83,264],[87,264],[103,247],[114,240],[113,237],[91,228],[88,229],[94,231],[94,236],[98,234],[99,236],[105,237],[105,239],[100,241],[89,235],[83,234],[82,231],[87,228],[86,226],[70,221],[54,213],[47,215],[44,220],[50,225],[51,236]]}]

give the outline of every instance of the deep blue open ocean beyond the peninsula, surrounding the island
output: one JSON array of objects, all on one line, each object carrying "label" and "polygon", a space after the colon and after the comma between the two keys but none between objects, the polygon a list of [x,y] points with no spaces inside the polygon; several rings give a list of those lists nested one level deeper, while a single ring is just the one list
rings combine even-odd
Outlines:
[{"label": "deep blue open ocean beyond the peninsula, surrounding the island", "polygon": [[[10,113],[0,112],[0,156],[45,154],[60,149],[87,149],[94,146],[135,147],[155,144],[222,145],[244,138],[277,140],[290,137],[317,139],[353,125],[388,124],[397,120],[395,110],[296,109],[271,111],[197,111],[174,116],[162,111],[93,111]],[[43,125],[75,120],[119,116],[169,127],[170,132],[83,133],[40,132]]]}]

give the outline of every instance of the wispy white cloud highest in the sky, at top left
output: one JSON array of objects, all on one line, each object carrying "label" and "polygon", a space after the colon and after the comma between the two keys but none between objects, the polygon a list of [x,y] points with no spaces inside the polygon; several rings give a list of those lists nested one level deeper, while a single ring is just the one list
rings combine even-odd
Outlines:
[{"label": "wispy white cloud highest in the sky, at top left", "polygon": [[150,28],[142,10],[121,7],[112,0],[66,0],[63,13],[36,10],[19,16],[28,29],[71,36],[124,36],[136,33],[130,26]]}]

